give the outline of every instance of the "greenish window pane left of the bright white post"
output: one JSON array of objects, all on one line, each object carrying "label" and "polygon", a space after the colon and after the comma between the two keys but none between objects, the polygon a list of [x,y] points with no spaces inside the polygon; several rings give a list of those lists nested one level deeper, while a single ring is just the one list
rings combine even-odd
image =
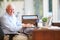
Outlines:
[{"label": "greenish window pane left of the bright white post", "polygon": [[41,19],[43,17],[43,0],[34,0],[35,14]]}]

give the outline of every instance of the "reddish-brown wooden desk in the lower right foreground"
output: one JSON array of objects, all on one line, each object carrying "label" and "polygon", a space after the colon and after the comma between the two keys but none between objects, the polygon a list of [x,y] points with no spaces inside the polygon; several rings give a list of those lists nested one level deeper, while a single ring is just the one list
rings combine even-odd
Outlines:
[{"label": "reddish-brown wooden desk in the lower right foreground", "polygon": [[32,40],[60,40],[60,30],[34,30]]}]

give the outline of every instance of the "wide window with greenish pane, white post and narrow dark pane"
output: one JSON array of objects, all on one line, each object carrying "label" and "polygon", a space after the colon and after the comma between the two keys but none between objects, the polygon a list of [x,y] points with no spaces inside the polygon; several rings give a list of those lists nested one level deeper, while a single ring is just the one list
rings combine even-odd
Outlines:
[{"label": "wide window with greenish pane, white post and narrow dark pane", "polygon": [[52,0],[34,0],[35,14],[41,19],[52,16]]}]

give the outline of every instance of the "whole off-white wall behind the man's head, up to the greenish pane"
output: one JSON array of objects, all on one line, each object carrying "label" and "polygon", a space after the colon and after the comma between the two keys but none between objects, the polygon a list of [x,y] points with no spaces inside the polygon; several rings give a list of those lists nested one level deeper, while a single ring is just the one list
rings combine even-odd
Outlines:
[{"label": "whole off-white wall behind the man's head, up to the greenish pane", "polygon": [[[16,6],[17,12],[19,12],[21,14],[25,13],[26,15],[34,14],[34,2],[33,2],[33,0],[24,0],[24,2],[23,1],[13,1],[12,3]],[[2,3],[3,10],[5,10],[5,7],[7,4],[8,4],[7,0],[4,0],[4,2]],[[1,12],[1,13],[3,13],[3,12]]]}]

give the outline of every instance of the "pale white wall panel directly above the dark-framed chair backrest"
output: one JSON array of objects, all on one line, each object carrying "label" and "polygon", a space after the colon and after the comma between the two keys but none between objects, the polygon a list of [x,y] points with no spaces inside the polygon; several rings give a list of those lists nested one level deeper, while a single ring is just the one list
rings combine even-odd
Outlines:
[{"label": "pale white wall panel directly above the dark-framed chair backrest", "polygon": [[34,14],[34,2],[33,0],[25,0],[25,15]]}]

